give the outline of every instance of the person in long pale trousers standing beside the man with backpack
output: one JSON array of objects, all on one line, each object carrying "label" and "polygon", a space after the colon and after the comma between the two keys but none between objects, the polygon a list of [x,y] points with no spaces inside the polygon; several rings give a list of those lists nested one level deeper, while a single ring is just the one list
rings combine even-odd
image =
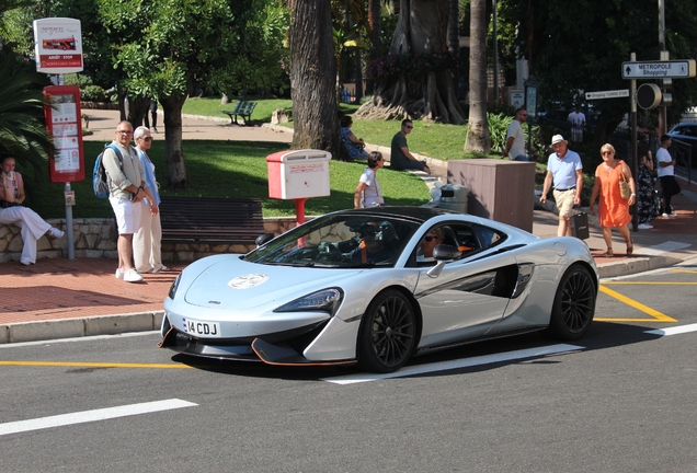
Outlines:
[{"label": "person in long pale trousers standing beside the man with backpack", "polygon": [[133,258],[138,273],[160,273],[168,267],[162,264],[160,241],[162,227],[160,226],[160,193],[155,177],[155,164],[147,152],[152,146],[152,136],[146,127],[138,127],[133,134],[136,140],[136,152],[142,163],[146,175],[145,193],[147,198],[141,201],[140,226],[133,236]]}]

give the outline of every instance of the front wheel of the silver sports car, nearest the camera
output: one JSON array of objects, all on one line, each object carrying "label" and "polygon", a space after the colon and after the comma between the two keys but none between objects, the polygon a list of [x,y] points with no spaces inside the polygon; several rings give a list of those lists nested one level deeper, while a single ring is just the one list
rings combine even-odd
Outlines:
[{"label": "front wheel of the silver sports car, nearest the camera", "polygon": [[358,365],[375,372],[401,368],[415,345],[416,318],[399,291],[379,295],[366,311],[358,333]]}]

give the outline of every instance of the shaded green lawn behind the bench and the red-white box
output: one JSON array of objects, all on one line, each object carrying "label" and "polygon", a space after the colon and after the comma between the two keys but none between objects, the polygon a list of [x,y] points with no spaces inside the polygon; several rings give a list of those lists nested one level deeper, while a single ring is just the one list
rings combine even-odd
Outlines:
[{"label": "shaded green lawn behind the bench and the red-white box", "polygon": [[[92,191],[92,169],[103,143],[84,142],[85,180],[71,184],[76,193],[75,218],[111,218],[113,212],[107,199],[99,199]],[[293,200],[268,198],[266,155],[287,149],[285,143],[250,141],[184,142],[186,174],[191,191],[173,192],[167,188],[164,142],[155,141],[148,154],[156,165],[161,195],[202,197],[259,197],[265,217],[295,216]],[[330,162],[329,197],[315,197],[306,203],[306,214],[322,215],[333,210],[353,208],[353,194],[365,163]],[[19,170],[23,174],[28,172]],[[419,206],[430,200],[426,185],[418,176],[402,171],[382,170],[378,174],[385,200],[389,205]],[[64,185],[48,182],[47,173],[39,177],[41,189],[33,192],[32,181],[26,180],[26,205],[44,218],[65,218]]]}]

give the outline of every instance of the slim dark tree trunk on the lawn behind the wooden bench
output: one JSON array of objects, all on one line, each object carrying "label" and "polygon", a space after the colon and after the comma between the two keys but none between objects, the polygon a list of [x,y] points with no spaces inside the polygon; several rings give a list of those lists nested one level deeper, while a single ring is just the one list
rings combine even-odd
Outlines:
[{"label": "slim dark tree trunk on the lawn behind the wooden bench", "polygon": [[186,95],[162,97],[160,103],[164,111],[164,151],[167,153],[167,176],[171,188],[187,189],[184,151],[182,150],[182,107]]}]

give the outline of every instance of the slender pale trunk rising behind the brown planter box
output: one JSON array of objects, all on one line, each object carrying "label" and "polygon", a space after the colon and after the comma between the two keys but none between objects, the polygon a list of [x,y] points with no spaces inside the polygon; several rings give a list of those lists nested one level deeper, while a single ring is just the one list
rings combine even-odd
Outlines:
[{"label": "slender pale trunk rising behind the brown planter box", "polygon": [[466,152],[491,151],[487,122],[487,3],[472,0],[469,47],[469,123]]}]

